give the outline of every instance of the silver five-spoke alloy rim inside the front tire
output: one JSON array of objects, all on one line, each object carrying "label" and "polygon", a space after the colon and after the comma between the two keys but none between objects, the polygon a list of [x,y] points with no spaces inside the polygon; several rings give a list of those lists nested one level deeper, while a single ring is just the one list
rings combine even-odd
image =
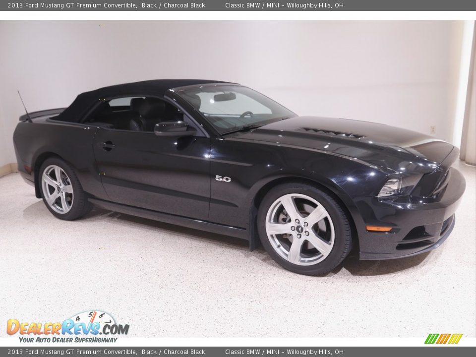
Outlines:
[{"label": "silver five-spoke alloy rim inside the front tire", "polygon": [[297,265],[320,263],[335,239],[334,224],[324,206],[299,193],[274,201],[266,215],[266,234],[274,250]]}]

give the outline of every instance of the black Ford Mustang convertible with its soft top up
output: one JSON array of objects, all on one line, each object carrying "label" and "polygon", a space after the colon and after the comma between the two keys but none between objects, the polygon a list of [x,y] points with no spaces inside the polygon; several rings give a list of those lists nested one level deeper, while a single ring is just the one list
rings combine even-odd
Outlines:
[{"label": "black Ford Mustang convertible with its soft top up", "polygon": [[20,117],[18,169],[56,217],[92,205],[259,242],[284,268],[410,256],[451,233],[453,145],[365,121],[297,117],[247,87],[151,80]]}]

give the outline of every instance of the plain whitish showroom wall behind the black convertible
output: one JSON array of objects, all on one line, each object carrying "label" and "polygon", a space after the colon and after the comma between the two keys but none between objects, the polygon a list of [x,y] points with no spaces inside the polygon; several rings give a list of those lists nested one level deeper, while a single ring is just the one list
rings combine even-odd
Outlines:
[{"label": "plain whitish showroom wall behind the black convertible", "polygon": [[153,78],[236,81],[299,115],[369,120],[451,141],[458,21],[1,21],[0,166],[23,108]]}]

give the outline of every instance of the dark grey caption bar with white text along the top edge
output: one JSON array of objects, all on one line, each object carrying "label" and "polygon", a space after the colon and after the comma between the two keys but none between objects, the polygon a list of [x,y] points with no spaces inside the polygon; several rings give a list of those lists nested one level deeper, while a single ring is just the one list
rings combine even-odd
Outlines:
[{"label": "dark grey caption bar with white text along the top edge", "polygon": [[474,11],[474,0],[1,1],[1,11]]}]

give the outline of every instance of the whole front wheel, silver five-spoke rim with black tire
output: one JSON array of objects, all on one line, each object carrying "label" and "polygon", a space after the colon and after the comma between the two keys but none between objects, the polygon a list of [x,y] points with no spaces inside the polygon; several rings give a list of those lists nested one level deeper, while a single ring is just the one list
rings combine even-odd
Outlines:
[{"label": "whole front wheel, silver five-spoke rim with black tire", "polygon": [[271,189],[258,210],[258,233],[284,268],[321,275],[339,265],[352,247],[345,212],[328,193],[304,183]]}]

